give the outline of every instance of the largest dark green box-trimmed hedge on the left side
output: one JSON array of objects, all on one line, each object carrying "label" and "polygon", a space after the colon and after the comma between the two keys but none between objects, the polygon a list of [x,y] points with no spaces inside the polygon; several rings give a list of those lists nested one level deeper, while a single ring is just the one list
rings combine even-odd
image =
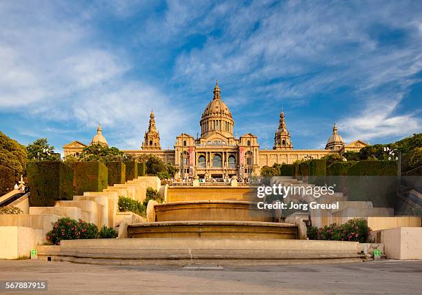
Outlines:
[{"label": "largest dark green box-trimmed hedge on the left side", "polygon": [[30,206],[54,206],[56,201],[73,199],[73,170],[61,161],[30,161],[28,183]]}]

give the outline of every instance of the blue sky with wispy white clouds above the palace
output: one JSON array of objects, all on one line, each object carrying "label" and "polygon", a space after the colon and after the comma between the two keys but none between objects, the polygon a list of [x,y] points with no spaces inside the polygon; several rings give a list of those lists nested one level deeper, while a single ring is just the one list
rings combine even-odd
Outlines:
[{"label": "blue sky with wispy white clouds above the palace", "polygon": [[139,149],[196,135],[219,78],[234,131],[271,148],[422,132],[422,1],[0,1],[0,130]]}]

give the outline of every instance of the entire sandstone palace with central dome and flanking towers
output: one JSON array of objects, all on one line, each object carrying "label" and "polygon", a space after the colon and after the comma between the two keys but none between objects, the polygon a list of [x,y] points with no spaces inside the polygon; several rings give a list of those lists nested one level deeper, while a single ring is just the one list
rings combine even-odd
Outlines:
[{"label": "entire sandstone palace with central dome and flanking towers", "polygon": [[[125,154],[139,156],[150,154],[158,156],[165,162],[179,167],[179,175],[183,178],[199,176],[199,178],[228,178],[231,176],[259,176],[261,167],[274,163],[291,164],[302,159],[321,159],[327,154],[343,154],[349,150],[358,151],[368,143],[356,140],[345,144],[338,133],[336,123],[332,135],[324,150],[294,150],[290,132],[285,123],[285,114],[281,110],[279,128],[274,135],[272,150],[260,150],[258,138],[252,133],[238,137],[233,133],[234,119],[232,112],[221,99],[218,80],[210,103],[201,115],[199,125],[201,136],[181,133],[176,137],[173,150],[161,149],[159,131],[155,123],[154,112],[151,111],[148,130],[145,131],[141,150],[123,150]],[[91,143],[108,145],[102,134],[101,125],[97,129]],[[87,145],[73,141],[63,146],[64,156],[77,156]]]}]

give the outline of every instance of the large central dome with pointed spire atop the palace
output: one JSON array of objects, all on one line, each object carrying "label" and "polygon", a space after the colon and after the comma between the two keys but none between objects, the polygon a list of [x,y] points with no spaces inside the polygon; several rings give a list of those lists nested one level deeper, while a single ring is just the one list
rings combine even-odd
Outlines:
[{"label": "large central dome with pointed spire atop the palace", "polygon": [[215,133],[223,134],[226,137],[233,136],[232,113],[221,100],[218,80],[214,88],[214,98],[203,111],[199,125],[201,125],[201,137],[203,138]]}]

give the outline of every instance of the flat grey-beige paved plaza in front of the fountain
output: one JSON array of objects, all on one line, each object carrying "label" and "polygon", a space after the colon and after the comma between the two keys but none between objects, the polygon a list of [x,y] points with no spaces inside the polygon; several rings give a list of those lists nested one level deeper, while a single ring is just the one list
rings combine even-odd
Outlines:
[{"label": "flat grey-beige paved plaza in front of the fountain", "polygon": [[422,261],[255,267],[0,261],[0,281],[46,280],[50,294],[421,294],[421,278]]}]

